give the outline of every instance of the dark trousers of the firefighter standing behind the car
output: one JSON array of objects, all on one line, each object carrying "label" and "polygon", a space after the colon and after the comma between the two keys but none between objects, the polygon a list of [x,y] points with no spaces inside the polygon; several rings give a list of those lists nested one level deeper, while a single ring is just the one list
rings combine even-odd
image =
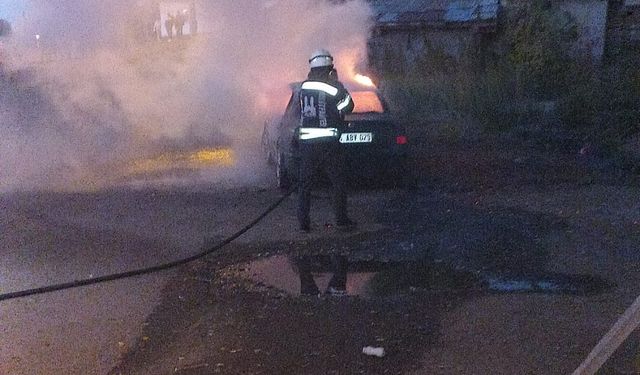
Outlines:
[{"label": "dark trousers of the firefighter standing behind the car", "polygon": [[311,190],[324,172],[331,181],[333,207],[337,223],[349,220],[347,215],[346,159],[340,143],[300,144],[300,185],[298,188],[298,223],[309,226]]}]

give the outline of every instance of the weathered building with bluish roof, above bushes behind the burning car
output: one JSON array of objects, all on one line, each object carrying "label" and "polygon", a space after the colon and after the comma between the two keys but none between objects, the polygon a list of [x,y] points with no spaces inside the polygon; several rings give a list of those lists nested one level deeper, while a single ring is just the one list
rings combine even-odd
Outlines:
[{"label": "weathered building with bluish roof, above bushes behind the burning car", "polygon": [[370,0],[375,70],[403,74],[425,54],[459,59],[497,29],[499,0]]}]

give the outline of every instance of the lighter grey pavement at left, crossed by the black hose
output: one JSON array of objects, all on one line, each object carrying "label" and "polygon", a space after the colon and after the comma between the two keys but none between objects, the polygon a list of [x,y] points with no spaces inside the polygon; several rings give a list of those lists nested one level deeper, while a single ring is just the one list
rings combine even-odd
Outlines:
[{"label": "lighter grey pavement at left, crossed by the black hose", "polygon": [[[200,174],[209,173],[208,182],[181,177],[169,185],[0,195],[0,293],[193,255],[279,195],[265,196],[270,181],[260,172],[213,177],[216,167],[207,168]],[[140,334],[172,275],[0,302],[0,374],[106,373]]]}]

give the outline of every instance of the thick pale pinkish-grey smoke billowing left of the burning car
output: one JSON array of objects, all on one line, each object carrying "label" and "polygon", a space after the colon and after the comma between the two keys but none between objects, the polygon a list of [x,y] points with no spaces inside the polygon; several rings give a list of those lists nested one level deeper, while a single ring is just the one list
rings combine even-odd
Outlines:
[{"label": "thick pale pinkish-grey smoke billowing left of the burning car", "polygon": [[114,166],[173,149],[241,153],[313,50],[348,73],[370,25],[364,0],[203,0],[201,33],[168,42],[140,38],[158,1],[27,3],[0,67],[0,191],[96,186]]}]

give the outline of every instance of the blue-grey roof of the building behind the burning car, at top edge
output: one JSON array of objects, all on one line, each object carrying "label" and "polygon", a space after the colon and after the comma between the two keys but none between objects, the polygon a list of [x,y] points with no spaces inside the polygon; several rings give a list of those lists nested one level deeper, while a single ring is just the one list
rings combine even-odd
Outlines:
[{"label": "blue-grey roof of the building behind the burning car, at top edge", "polygon": [[369,0],[379,26],[486,23],[497,20],[500,0]]}]

